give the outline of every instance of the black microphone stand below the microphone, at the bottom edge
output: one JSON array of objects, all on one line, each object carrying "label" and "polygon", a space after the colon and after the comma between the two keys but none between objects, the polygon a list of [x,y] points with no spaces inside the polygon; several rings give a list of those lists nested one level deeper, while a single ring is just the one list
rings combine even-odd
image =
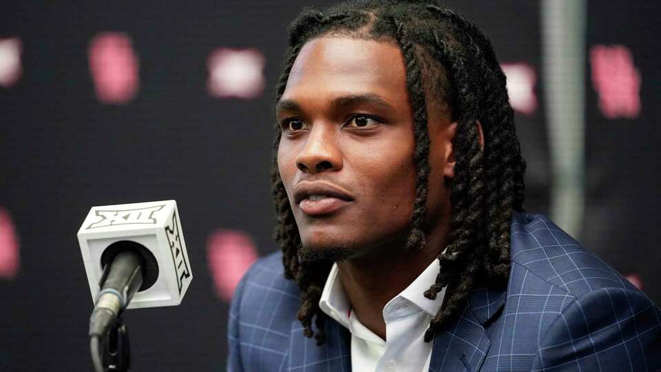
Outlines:
[{"label": "black microphone stand below the microphone, at the bottom edge", "polygon": [[123,321],[123,313],[117,318],[106,337],[103,338],[101,360],[105,371],[128,371],[131,365],[129,329]]}]

